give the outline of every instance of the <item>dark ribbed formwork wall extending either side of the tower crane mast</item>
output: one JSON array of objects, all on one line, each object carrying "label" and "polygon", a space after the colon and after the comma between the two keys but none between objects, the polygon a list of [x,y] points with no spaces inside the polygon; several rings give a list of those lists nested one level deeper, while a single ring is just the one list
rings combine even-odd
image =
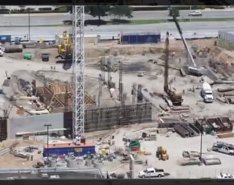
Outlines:
[{"label": "dark ribbed formwork wall extending either side of the tower crane mast", "polygon": [[[134,123],[144,123],[152,120],[151,103],[115,106],[108,108],[93,108],[85,110],[85,132],[112,129]],[[71,132],[72,112],[64,113],[65,135]]]}]

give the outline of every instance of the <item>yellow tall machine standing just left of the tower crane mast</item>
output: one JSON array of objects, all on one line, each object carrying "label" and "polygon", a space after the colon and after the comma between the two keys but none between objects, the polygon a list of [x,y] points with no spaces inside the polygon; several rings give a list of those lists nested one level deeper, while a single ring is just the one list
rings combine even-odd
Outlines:
[{"label": "yellow tall machine standing just left of the tower crane mast", "polygon": [[72,64],[72,36],[64,31],[58,42],[58,56],[56,58],[61,59],[58,63],[63,63],[66,69],[70,68]]}]

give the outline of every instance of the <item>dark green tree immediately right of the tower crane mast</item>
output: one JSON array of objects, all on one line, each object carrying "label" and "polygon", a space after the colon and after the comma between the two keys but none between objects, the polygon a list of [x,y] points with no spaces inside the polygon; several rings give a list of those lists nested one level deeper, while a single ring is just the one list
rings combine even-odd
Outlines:
[{"label": "dark green tree immediately right of the tower crane mast", "polygon": [[101,17],[107,16],[107,12],[110,10],[109,5],[95,5],[95,6],[85,6],[85,13],[93,16],[98,17],[100,22]]}]

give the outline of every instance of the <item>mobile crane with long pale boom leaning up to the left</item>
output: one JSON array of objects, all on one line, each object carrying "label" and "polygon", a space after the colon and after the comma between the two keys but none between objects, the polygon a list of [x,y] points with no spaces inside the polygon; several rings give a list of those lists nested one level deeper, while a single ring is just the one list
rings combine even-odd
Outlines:
[{"label": "mobile crane with long pale boom leaning up to the left", "polygon": [[185,49],[186,49],[186,51],[188,53],[189,59],[192,62],[191,64],[188,64],[188,66],[186,66],[187,73],[190,74],[190,75],[193,75],[193,76],[202,76],[203,72],[197,66],[197,64],[196,64],[196,62],[194,60],[196,58],[196,56],[194,54],[192,54],[192,52],[191,52],[191,50],[190,50],[184,36],[183,36],[183,32],[182,32],[182,30],[180,28],[180,25],[179,25],[179,23],[178,23],[178,21],[176,19],[176,15],[173,14],[172,17],[173,17],[173,21],[175,22],[176,28],[177,28],[177,30],[178,30],[178,32],[180,34],[180,37],[181,37],[181,39],[183,41]]}]

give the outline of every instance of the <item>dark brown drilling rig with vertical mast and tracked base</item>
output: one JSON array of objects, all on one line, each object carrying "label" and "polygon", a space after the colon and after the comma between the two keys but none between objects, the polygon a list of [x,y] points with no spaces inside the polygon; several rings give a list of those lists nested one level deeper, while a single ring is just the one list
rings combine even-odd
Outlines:
[{"label": "dark brown drilling rig with vertical mast and tracked base", "polygon": [[178,94],[168,87],[168,70],[169,70],[169,33],[167,32],[165,48],[165,71],[164,71],[164,91],[167,93],[172,104],[175,106],[181,106],[183,102],[182,94]]}]

